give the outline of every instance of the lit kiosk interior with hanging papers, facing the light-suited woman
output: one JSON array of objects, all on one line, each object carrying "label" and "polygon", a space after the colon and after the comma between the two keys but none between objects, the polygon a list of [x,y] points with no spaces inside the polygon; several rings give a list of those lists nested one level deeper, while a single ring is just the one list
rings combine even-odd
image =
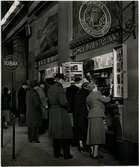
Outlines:
[{"label": "lit kiosk interior with hanging papers, facing the light-suited woman", "polygon": [[108,53],[92,58],[94,69],[92,78],[98,90],[104,95],[113,93],[113,54]]}]

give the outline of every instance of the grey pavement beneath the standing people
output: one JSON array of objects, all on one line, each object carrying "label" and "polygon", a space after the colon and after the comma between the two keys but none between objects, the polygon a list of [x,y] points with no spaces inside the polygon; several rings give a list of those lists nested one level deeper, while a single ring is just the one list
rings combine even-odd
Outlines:
[{"label": "grey pavement beneath the standing people", "polygon": [[4,129],[3,148],[1,149],[2,166],[119,166],[108,151],[101,149],[103,159],[91,159],[89,153],[79,152],[77,147],[71,147],[73,159],[64,160],[62,157],[53,157],[53,149],[48,133],[40,135],[40,143],[29,143],[27,140],[27,127],[15,129],[16,159],[12,159],[12,126]]}]

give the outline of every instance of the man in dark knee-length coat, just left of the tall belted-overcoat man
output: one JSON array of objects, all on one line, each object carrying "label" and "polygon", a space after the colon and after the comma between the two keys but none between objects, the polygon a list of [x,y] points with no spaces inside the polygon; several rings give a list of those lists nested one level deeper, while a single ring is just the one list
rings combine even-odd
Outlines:
[{"label": "man in dark knee-length coat, just left of the tall belted-overcoat man", "polygon": [[35,90],[38,87],[37,83],[32,84],[32,88],[27,91],[27,126],[28,126],[28,139],[30,142],[39,143],[38,134],[39,127],[42,124],[42,109],[41,100]]}]

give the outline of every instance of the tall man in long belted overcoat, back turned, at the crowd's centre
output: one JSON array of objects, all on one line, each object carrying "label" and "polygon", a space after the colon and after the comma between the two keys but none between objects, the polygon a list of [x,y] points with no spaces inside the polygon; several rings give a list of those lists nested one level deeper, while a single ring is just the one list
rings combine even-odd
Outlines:
[{"label": "tall man in long belted overcoat, back turned, at the crowd's centre", "polygon": [[70,140],[73,134],[62,81],[63,75],[57,74],[56,82],[48,89],[49,135],[53,139],[54,156],[59,158],[62,148],[64,159],[70,159],[72,158],[72,155],[70,155]]}]

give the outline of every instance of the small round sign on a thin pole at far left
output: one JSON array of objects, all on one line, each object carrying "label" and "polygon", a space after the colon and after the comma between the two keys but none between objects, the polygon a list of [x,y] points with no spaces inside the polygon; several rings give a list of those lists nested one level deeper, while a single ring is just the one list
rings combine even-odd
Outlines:
[{"label": "small round sign on a thin pole at far left", "polygon": [[14,55],[8,55],[7,57],[5,57],[3,60],[3,64],[6,69],[10,71],[16,70],[19,65],[17,57]]}]

